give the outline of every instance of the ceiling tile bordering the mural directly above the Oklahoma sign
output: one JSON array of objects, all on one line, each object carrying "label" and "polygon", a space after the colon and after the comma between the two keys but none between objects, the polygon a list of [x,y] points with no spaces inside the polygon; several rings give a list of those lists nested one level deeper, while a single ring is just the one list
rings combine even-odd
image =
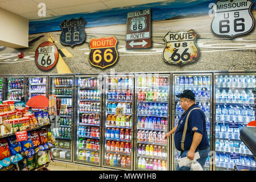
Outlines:
[{"label": "ceiling tile bordering the mural directly above the Oklahoma sign", "polygon": [[89,5],[79,5],[79,6],[72,6],[72,7],[64,7],[60,9],[52,9],[53,12],[56,12],[59,15],[66,15],[66,14],[76,14],[76,13],[85,13],[85,12],[93,12],[102,9],[108,9],[104,5],[104,3],[91,3]]}]

